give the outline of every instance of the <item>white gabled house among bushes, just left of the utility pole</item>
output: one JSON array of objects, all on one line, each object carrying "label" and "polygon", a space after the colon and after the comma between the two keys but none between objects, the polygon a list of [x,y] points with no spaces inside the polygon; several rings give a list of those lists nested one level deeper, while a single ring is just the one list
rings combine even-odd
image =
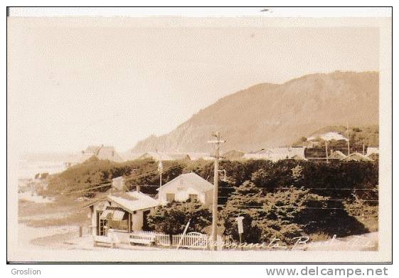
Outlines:
[{"label": "white gabled house among bushes, just left of the utility pole", "polygon": [[198,201],[206,205],[212,204],[213,184],[196,173],[186,173],[175,177],[158,189],[159,202]]}]

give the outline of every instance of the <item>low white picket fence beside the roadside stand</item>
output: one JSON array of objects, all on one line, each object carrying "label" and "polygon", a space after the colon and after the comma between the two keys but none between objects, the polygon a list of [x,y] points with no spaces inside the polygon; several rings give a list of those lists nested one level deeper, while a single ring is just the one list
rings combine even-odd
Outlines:
[{"label": "low white picket fence beside the roadside stand", "polygon": [[[132,234],[134,235],[152,235],[155,237],[155,244],[161,246],[171,246],[171,247],[179,247],[182,248],[195,248],[195,249],[207,249],[209,242],[208,235],[204,235],[201,233],[188,233],[184,235],[183,239],[181,237],[183,234],[172,235],[172,242],[170,240],[170,236],[161,232],[149,232],[149,231],[134,231]],[[230,244],[233,240],[231,237],[222,237],[218,235],[217,240],[217,249],[222,250],[225,244]]]}]

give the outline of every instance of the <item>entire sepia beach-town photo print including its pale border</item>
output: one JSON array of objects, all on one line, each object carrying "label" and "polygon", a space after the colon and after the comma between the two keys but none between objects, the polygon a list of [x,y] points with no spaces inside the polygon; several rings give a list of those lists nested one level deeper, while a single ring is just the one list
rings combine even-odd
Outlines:
[{"label": "entire sepia beach-town photo print including its pale border", "polygon": [[7,262],[392,262],[392,9],[7,8]]}]

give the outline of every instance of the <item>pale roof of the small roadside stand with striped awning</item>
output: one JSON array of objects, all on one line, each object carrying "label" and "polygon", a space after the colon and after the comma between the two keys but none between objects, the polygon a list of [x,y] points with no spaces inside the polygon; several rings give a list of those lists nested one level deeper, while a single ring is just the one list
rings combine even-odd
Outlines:
[{"label": "pale roof of the small roadside stand with striped awning", "polygon": [[115,192],[109,195],[102,195],[96,200],[88,203],[85,207],[94,205],[96,202],[101,202],[108,200],[117,203],[120,207],[124,208],[129,212],[134,212],[136,210],[145,210],[147,208],[156,207],[159,205],[159,201],[154,198],[145,195],[142,192],[132,191],[132,192]]}]

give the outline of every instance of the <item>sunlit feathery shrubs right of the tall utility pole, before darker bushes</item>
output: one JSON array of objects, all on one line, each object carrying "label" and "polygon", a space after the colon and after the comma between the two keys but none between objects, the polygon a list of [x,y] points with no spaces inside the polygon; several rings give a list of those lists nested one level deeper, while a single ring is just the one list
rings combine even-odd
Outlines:
[{"label": "sunlit feathery shrubs right of the tall utility pole, before darker bushes", "polygon": [[[319,232],[339,237],[368,232],[341,204],[309,190],[287,187],[265,193],[252,182],[244,182],[231,194],[221,212],[225,235],[238,240],[235,217],[243,216],[245,242],[271,242],[278,239],[293,244],[295,237]],[[340,225],[336,225],[339,220]]]}]

